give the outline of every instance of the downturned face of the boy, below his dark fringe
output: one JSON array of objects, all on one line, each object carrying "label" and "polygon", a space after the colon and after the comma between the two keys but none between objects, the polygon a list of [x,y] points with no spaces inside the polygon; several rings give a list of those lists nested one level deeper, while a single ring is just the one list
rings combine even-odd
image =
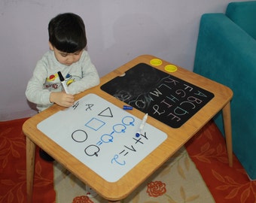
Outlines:
[{"label": "downturned face of the boy, below his dark fringe", "polygon": [[83,53],[83,50],[77,51],[75,53],[65,53],[60,50],[57,50],[56,47],[53,47],[52,44],[50,44],[50,50],[53,50],[54,56],[57,59],[58,62],[60,62],[63,65],[72,65],[74,62],[78,62],[81,54]]}]

